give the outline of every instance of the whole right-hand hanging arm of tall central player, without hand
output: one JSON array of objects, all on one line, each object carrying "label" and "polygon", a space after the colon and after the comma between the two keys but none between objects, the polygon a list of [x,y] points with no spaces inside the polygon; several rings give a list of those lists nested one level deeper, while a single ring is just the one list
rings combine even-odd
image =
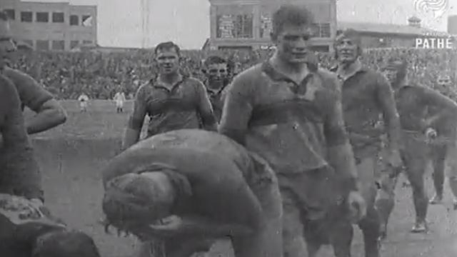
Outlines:
[{"label": "whole right-hand hanging arm of tall central player, without hand", "polygon": [[323,132],[326,136],[328,147],[328,162],[335,168],[341,178],[343,192],[357,191],[356,163],[344,126],[338,80],[335,76],[332,79],[327,79],[326,83],[331,84],[333,87],[331,97],[328,99],[328,110],[323,124]]}]

